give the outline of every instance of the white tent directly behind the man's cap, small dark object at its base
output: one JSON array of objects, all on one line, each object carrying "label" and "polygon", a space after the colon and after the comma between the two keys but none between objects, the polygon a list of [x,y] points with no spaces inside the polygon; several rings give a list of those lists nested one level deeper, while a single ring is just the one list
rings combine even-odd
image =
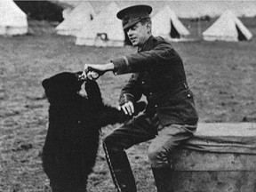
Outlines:
[{"label": "white tent directly behind the man's cap, small dark object at its base", "polygon": [[116,18],[119,7],[115,2],[108,4],[90,25],[85,26],[76,36],[78,45],[124,46],[122,21]]}]

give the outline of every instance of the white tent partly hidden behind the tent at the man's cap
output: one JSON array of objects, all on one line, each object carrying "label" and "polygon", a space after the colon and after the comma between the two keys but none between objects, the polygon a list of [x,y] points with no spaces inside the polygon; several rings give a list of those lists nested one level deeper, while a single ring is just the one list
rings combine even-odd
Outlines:
[{"label": "white tent partly hidden behind the tent at the man's cap", "polygon": [[76,36],[76,33],[88,25],[96,15],[89,2],[81,2],[73,11],[68,14],[67,12],[63,12],[66,18],[56,27],[59,35]]}]

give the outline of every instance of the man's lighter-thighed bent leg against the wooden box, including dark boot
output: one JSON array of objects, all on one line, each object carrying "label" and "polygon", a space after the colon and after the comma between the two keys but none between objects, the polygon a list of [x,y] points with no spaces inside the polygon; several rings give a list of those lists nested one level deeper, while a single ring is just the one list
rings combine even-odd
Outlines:
[{"label": "man's lighter-thighed bent leg against the wooden box, including dark boot", "polygon": [[[157,192],[173,192],[172,164],[169,159],[174,148],[196,132],[196,125],[171,124],[158,131],[148,148],[148,157],[156,181]],[[169,181],[169,182],[168,182]]]}]

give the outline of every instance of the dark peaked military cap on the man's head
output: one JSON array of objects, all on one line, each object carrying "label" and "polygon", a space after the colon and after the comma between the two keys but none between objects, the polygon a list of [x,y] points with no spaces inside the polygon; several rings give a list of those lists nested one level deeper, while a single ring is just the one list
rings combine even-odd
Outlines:
[{"label": "dark peaked military cap on the man's head", "polygon": [[124,30],[132,27],[143,19],[149,19],[152,7],[146,4],[133,5],[117,12],[116,17],[123,20]]}]

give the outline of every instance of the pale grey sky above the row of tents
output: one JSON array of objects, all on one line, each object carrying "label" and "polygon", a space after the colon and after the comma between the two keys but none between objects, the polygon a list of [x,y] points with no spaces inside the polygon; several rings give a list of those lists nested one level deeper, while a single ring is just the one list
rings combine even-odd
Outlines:
[{"label": "pale grey sky above the row of tents", "polygon": [[[78,1],[75,0],[57,0],[60,2],[65,2],[67,4],[77,4]],[[88,1],[88,0],[80,0]],[[105,9],[105,4],[109,1],[90,1],[94,6],[96,12]],[[153,7],[152,15],[161,10],[164,4],[168,4],[172,11],[176,13],[179,18],[198,18],[204,17],[206,15],[212,17],[220,16],[222,12],[226,10],[232,10],[237,16],[256,16],[256,1],[254,0],[174,0],[174,1],[156,1],[156,0],[133,0],[133,1],[116,1],[121,8],[131,6],[134,4],[145,4],[151,5]]]}]

